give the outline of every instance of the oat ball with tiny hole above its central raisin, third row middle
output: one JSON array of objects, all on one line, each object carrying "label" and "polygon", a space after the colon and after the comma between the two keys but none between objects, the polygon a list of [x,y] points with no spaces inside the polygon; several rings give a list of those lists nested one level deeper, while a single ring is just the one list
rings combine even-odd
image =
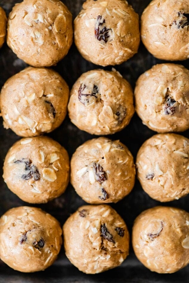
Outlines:
[{"label": "oat ball with tiny hole above its central raisin, third row middle", "polygon": [[135,164],[120,141],[86,141],[71,159],[71,184],[87,203],[118,202],[133,189]]}]

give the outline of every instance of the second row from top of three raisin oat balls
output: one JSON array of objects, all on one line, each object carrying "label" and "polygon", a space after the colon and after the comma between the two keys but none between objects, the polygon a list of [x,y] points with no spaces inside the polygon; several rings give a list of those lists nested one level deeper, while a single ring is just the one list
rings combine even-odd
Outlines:
[{"label": "second row from top of three raisin oat balls", "polygon": [[[142,74],[134,91],[136,112],[157,132],[189,128],[189,71],[178,64],[158,64]],[[10,77],[1,89],[4,127],[23,137],[57,128],[65,118],[69,88],[51,69],[28,67]],[[70,92],[69,116],[91,134],[113,134],[126,127],[134,114],[133,91],[115,69],[88,71]]]}]

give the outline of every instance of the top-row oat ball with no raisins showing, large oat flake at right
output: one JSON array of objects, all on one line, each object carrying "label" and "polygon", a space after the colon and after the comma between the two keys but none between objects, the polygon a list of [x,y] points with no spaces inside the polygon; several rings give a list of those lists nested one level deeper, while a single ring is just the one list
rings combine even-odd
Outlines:
[{"label": "top-row oat ball with no raisins showing, large oat flake at right", "polygon": [[29,65],[55,65],[67,55],[72,38],[72,15],[61,1],[24,0],[9,15],[7,44]]}]

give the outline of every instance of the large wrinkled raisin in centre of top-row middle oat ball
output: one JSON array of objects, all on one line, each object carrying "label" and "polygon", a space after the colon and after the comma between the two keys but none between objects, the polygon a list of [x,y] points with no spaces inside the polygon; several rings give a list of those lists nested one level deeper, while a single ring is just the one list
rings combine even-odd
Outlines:
[{"label": "large wrinkled raisin in centre of top-row middle oat ball", "polygon": [[98,15],[94,30],[95,38],[98,41],[107,43],[110,38],[110,31],[112,30],[107,29],[107,27],[105,26],[105,19],[103,19],[101,15]]}]

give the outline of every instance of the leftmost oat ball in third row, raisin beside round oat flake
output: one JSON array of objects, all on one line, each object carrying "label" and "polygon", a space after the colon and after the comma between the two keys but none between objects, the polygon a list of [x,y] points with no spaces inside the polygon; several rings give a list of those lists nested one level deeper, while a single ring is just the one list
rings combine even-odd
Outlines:
[{"label": "leftmost oat ball in third row, raisin beside round oat flake", "polygon": [[29,203],[47,203],[59,197],[69,182],[69,157],[48,137],[17,141],[7,153],[3,178],[8,188]]}]

